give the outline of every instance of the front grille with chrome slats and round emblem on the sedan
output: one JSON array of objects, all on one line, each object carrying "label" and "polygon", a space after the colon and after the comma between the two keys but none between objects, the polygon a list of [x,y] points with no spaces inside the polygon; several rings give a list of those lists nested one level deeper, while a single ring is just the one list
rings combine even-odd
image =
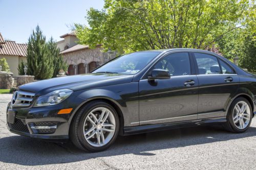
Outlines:
[{"label": "front grille with chrome slats and round emblem on the sedan", "polygon": [[29,107],[33,101],[35,93],[27,91],[15,91],[12,96],[11,105],[13,107]]}]

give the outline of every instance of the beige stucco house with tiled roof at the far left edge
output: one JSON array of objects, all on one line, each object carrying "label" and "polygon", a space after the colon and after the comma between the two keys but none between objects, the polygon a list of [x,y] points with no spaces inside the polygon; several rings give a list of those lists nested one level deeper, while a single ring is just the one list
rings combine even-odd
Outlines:
[{"label": "beige stucco house with tiled roof at the far left edge", "polygon": [[19,63],[27,62],[27,47],[27,44],[4,40],[0,33],[0,59],[5,58],[7,60],[13,76],[18,76]]}]

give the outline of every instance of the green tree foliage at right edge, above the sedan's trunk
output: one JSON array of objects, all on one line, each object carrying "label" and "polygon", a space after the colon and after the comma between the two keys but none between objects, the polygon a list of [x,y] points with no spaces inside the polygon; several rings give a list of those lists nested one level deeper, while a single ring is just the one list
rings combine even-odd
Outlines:
[{"label": "green tree foliage at right edge, above the sedan's trunk", "polygon": [[239,65],[249,71],[256,72],[256,8],[254,1],[244,11],[241,25],[217,41],[222,55],[230,60],[239,57]]}]

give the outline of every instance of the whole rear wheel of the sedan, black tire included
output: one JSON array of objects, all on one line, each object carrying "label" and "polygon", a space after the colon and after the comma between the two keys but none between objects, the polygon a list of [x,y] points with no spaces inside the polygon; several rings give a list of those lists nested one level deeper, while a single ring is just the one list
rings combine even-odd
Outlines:
[{"label": "whole rear wheel of the sedan, black tire included", "polygon": [[[244,111],[244,114],[241,114],[240,113],[241,110],[235,107],[237,107],[238,105],[242,108],[243,104],[246,104],[246,110]],[[229,107],[229,110],[227,113],[227,122],[224,124],[224,128],[227,131],[234,132],[234,133],[245,132],[250,127],[252,113],[253,112],[252,112],[251,104],[247,99],[242,97],[235,99]],[[241,126],[241,124],[243,124],[243,123],[240,123],[241,119],[244,122],[244,126]]]}]

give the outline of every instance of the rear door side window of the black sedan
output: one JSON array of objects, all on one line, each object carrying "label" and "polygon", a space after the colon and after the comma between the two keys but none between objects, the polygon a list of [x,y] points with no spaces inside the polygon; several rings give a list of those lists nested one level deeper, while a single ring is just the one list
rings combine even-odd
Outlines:
[{"label": "rear door side window of the black sedan", "polygon": [[203,53],[194,53],[198,65],[199,75],[221,74],[217,57]]}]

